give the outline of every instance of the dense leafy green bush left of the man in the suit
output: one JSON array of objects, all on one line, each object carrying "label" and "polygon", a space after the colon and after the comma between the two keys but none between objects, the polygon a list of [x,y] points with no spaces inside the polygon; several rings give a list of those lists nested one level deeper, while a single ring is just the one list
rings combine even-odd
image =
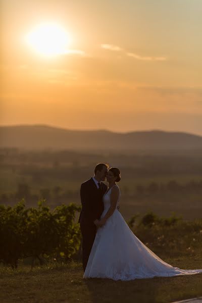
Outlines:
[{"label": "dense leafy green bush left of the man in the suit", "polygon": [[0,261],[17,267],[26,257],[70,259],[80,245],[80,228],[74,223],[80,207],[70,204],[53,211],[45,200],[37,208],[25,208],[24,200],[16,206],[0,206]]}]

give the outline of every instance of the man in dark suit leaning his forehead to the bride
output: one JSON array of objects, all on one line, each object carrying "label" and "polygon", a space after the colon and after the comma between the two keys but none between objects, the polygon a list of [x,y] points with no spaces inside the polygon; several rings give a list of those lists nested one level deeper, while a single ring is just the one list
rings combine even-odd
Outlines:
[{"label": "man in dark suit leaning his forehead to the bride", "polygon": [[85,271],[90,251],[96,235],[99,218],[104,211],[103,195],[107,191],[105,181],[108,165],[99,163],[94,169],[94,176],[81,184],[80,195],[82,210],[79,223],[82,234],[82,262]]}]

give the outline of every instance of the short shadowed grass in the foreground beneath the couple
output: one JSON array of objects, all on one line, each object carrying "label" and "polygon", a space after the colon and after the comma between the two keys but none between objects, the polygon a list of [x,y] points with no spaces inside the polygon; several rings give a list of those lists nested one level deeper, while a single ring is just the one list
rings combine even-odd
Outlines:
[{"label": "short shadowed grass in the foreground beneath the couple", "polygon": [[[202,268],[200,256],[164,259],[183,269]],[[202,275],[136,279],[129,282],[83,279],[81,263],[0,267],[0,302],[11,303],[166,303],[202,295]]]}]

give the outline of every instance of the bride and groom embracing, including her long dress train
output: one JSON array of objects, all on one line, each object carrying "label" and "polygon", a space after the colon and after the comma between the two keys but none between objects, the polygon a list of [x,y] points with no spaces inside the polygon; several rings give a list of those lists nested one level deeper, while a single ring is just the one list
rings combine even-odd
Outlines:
[{"label": "bride and groom embracing, including her long dress train", "polygon": [[[133,234],[119,212],[120,170],[108,169],[97,164],[94,176],[81,184],[83,277],[129,281],[202,273],[169,265]],[[109,187],[102,182],[106,178]]]}]

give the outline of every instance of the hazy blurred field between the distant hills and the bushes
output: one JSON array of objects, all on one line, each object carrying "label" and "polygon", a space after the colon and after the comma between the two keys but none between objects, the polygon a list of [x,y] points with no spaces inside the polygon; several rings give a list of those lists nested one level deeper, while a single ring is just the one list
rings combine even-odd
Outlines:
[{"label": "hazy blurred field between the distant hills and the bushes", "polygon": [[27,206],[45,198],[54,208],[80,205],[80,184],[93,175],[99,162],[121,169],[121,213],[154,211],[185,219],[202,212],[202,153],[177,151],[71,151],[0,149],[0,204],[14,205],[25,197]]}]

